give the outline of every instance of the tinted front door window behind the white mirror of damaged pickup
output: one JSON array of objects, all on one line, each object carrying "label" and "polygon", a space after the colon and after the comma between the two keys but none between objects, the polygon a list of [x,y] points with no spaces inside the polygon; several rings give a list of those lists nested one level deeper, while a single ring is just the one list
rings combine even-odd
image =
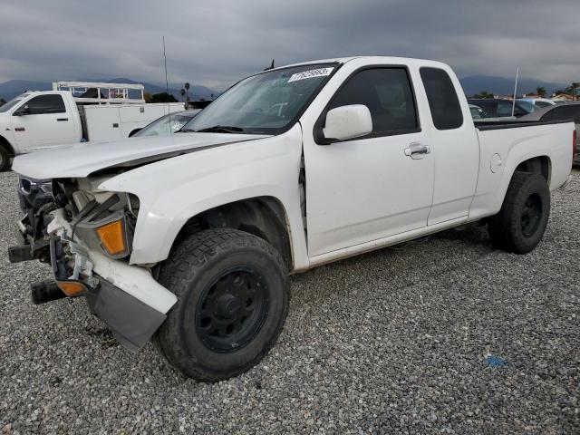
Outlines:
[{"label": "tinted front door window behind the white mirror of damaged pickup", "polygon": [[411,82],[404,68],[373,68],[355,73],[336,92],[327,110],[350,104],[364,104],[371,111],[372,133],[368,137],[419,129]]}]

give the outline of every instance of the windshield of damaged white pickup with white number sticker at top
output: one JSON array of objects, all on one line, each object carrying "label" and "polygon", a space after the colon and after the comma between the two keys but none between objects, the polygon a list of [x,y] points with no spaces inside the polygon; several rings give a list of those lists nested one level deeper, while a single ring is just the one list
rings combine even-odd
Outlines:
[{"label": "windshield of damaged white pickup with white number sticker at top", "polygon": [[295,121],[336,67],[335,63],[301,65],[248,77],[181,131],[277,134]]}]

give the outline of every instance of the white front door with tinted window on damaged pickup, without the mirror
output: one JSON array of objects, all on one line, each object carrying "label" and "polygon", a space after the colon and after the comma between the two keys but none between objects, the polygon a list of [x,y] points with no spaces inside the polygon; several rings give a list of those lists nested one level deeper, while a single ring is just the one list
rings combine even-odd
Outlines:
[{"label": "white front door with tinted window on damaged pickup, without the mirror", "polygon": [[[320,145],[304,131],[311,258],[427,226],[434,164],[407,68],[353,73],[320,120],[327,111],[350,104],[363,104],[371,112],[367,136]],[[422,145],[429,151],[411,155],[411,148]]]}]

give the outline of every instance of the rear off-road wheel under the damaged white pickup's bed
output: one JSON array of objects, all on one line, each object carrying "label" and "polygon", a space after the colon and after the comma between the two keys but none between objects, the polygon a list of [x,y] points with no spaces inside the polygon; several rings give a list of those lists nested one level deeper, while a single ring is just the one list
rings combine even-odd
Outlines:
[{"label": "rear off-road wheel under the damaged white pickup's bed", "polygon": [[[530,199],[530,198],[533,198]],[[527,227],[528,201],[539,205],[537,221]],[[550,215],[550,189],[541,175],[515,172],[507,188],[499,213],[488,220],[488,234],[493,247],[516,254],[534,249],[546,231]]]}]

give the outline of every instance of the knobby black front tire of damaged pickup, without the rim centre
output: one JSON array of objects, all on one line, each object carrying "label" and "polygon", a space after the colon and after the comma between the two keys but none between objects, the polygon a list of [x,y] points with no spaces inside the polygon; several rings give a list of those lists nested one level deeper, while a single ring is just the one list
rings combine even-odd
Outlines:
[{"label": "knobby black front tire of damaged pickup, without the rim centre", "polygon": [[[239,349],[216,352],[203,342],[198,322],[208,288],[220,274],[249,267],[261,274],[266,314],[261,326]],[[280,253],[262,238],[233,229],[209,229],[179,243],[160,270],[159,282],[178,296],[155,340],[167,361],[186,376],[217,382],[256,365],[282,332],[290,299],[288,272]],[[220,287],[221,288],[221,287]]]}]

